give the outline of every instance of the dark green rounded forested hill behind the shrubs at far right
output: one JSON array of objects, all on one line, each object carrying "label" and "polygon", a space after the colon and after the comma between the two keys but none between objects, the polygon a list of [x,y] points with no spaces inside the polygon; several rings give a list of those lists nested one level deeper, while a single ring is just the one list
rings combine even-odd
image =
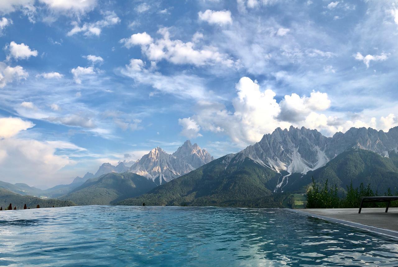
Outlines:
[{"label": "dark green rounded forested hill behind the shrubs at far right", "polygon": [[[291,183],[284,187],[287,191],[305,192],[311,177],[316,183],[323,184],[328,179],[329,185],[337,185],[345,192],[351,181],[353,187],[370,184],[374,191],[383,193],[387,188],[398,188],[398,167],[396,153],[390,157],[382,157],[377,153],[364,149],[351,149],[339,154],[324,167],[309,171],[304,176],[296,176]],[[393,190],[394,191],[394,190]]]}]

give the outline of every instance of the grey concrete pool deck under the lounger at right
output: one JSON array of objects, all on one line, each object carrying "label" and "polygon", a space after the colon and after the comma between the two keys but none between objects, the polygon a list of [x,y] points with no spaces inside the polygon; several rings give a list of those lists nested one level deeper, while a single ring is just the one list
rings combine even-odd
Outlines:
[{"label": "grey concrete pool deck under the lounger at right", "polygon": [[292,210],[304,215],[346,224],[398,238],[398,208],[311,208]]}]

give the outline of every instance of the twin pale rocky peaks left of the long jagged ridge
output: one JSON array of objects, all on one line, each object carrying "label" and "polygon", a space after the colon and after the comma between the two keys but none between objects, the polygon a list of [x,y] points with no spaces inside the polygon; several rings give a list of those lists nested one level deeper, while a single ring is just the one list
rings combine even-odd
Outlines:
[{"label": "twin pale rocky peaks left of the long jagged ridge", "polygon": [[205,149],[201,149],[196,143],[192,145],[187,140],[173,154],[166,153],[160,147],[152,149],[134,163],[129,171],[161,185],[189,173],[213,159]]}]

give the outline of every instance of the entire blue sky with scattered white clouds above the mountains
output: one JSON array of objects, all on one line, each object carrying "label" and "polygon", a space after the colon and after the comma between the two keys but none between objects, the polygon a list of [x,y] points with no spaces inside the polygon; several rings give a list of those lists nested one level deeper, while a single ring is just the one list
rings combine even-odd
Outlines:
[{"label": "entire blue sky with scattered white clouds above the mountains", "polygon": [[388,131],[398,2],[0,2],[0,180],[48,187],[186,139]]}]

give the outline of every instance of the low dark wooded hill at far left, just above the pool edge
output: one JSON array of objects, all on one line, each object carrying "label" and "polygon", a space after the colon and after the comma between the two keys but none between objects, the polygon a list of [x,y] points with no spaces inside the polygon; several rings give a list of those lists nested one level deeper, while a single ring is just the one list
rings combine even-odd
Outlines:
[{"label": "low dark wooded hill at far left, just above the pool edge", "polygon": [[26,204],[27,207],[36,208],[40,205],[41,208],[51,208],[55,207],[65,207],[74,206],[75,204],[71,201],[64,201],[58,199],[41,199],[35,196],[23,196],[21,194],[14,193],[10,190],[0,188],[0,206],[3,210],[12,203],[12,206],[17,207],[17,209],[22,209],[23,205]]}]

